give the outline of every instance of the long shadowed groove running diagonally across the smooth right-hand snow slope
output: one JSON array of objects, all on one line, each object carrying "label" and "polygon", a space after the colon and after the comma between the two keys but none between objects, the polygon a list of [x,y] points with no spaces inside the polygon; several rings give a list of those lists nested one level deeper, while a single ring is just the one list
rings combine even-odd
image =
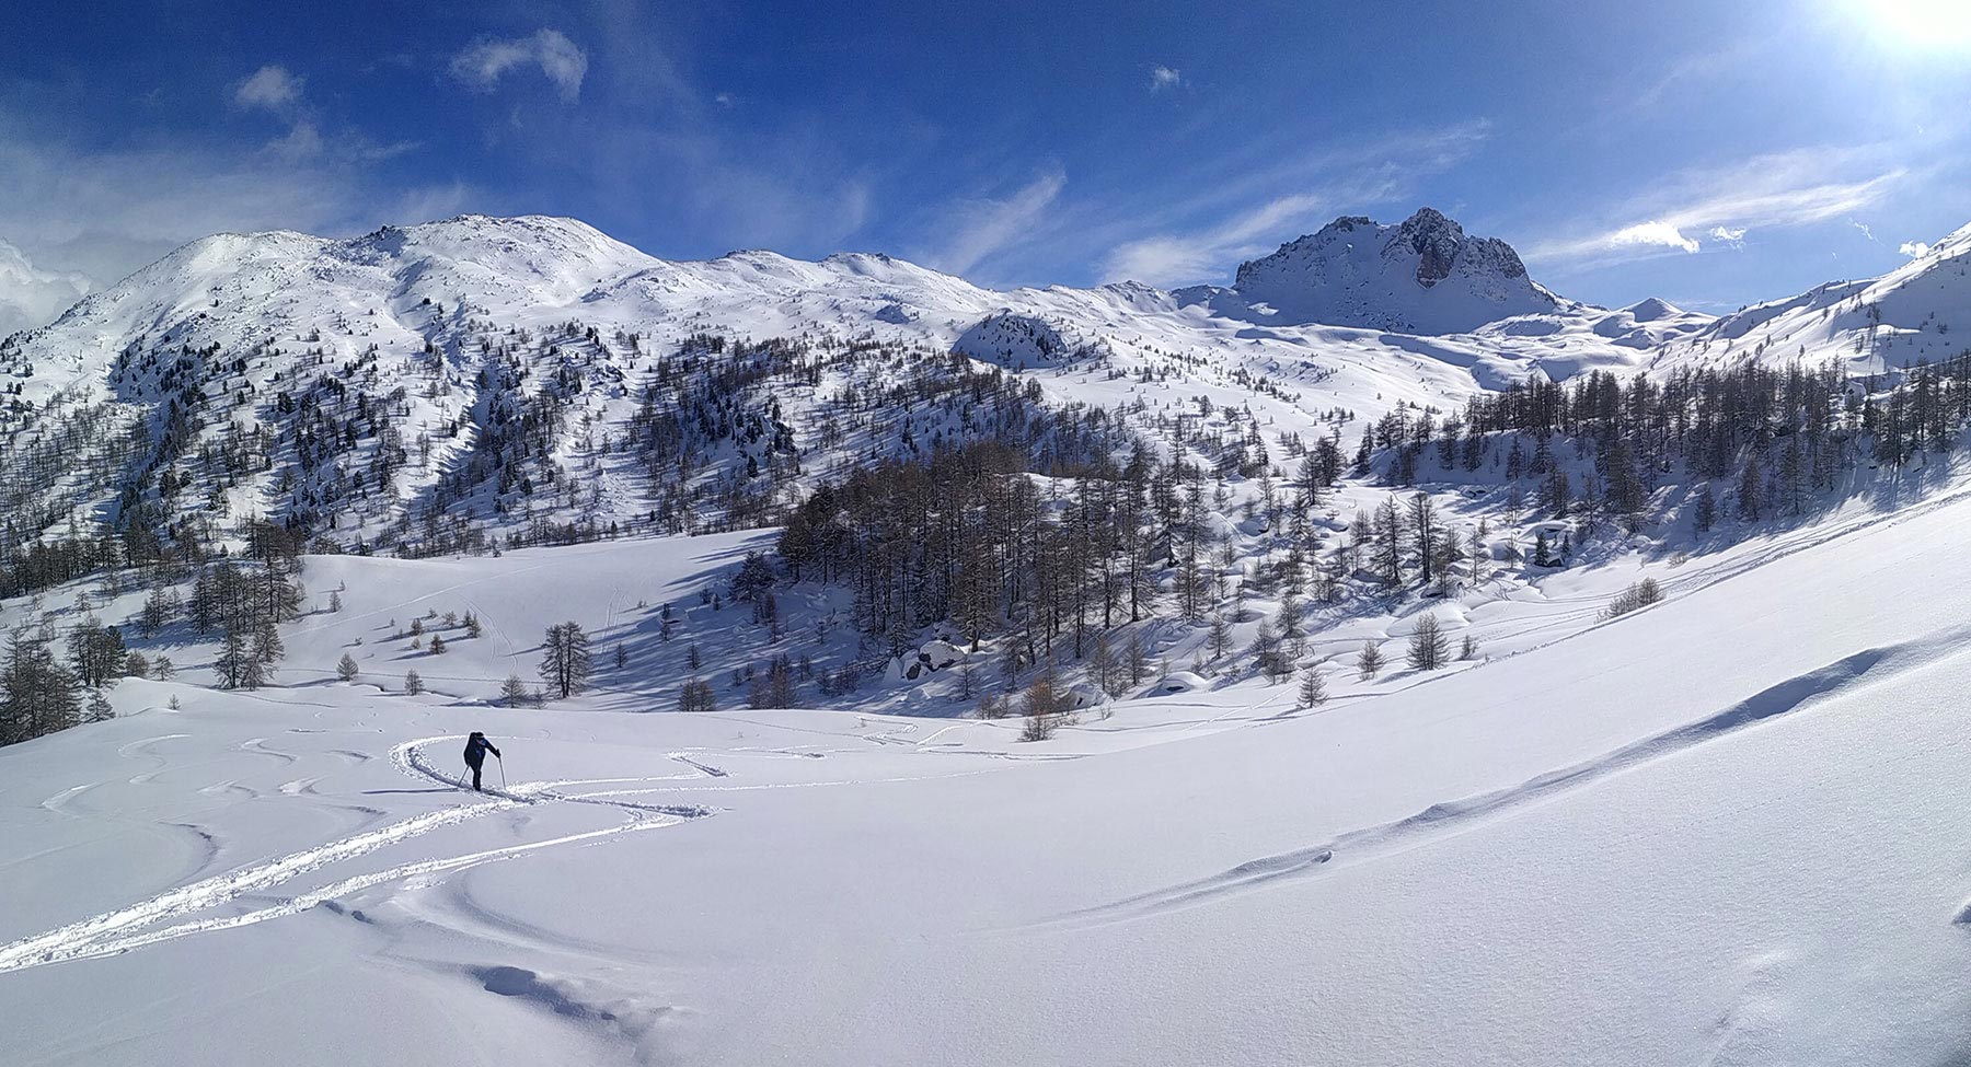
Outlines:
[{"label": "long shadowed groove running diagonally across the smooth right-hand snow slope", "polygon": [[[1750,697],[1707,719],[1624,744],[1595,760],[1539,774],[1520,785],[1508,785],[1504,789],[1457,801],[1433,803],[1431,807],[1425,807],[1405,819],[1348,831],[1323,845],[1291,848],[1271,856],[1257,856],[1206,878],[1179,882],[1175,886],[1129,896],[1112,904],[1082,908],[1039,923],[1029,923],[1025,929],[1092,927],[1143,919],[1149,915],[1208,904],[1269,882],[1319,874],[1336,860],[1368,860],[1417,845],[1427,845],[1429,841],[1459,833],[1482,819],[1502,815],[1522,805],[1539,803],[1557,793],[1585,787],[1638,764],[1662,760],[1709,740],[1729,736],[1746,726],[1801,711],[1859,685],[1922,669],[1947,656],[1961,654],[1965,642],[1971,642],[1971,624],[1947,626],[1908,642],[1855,652],[1813,671],[1768,685],[1766,689],[1760,689],[1758,693],[1752,693]],[[1971,923],[1971,904],[1955,915],[1955,921]]]}]

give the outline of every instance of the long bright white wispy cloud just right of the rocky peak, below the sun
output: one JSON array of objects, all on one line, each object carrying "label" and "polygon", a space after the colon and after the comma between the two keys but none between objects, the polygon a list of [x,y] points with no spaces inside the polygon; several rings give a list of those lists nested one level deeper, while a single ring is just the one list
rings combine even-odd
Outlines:
[{"label": "long bright white wispy cloud just right of the rocky peak, below the sun", "polygon": [[[1585,262],[1664,250],[1697,252],[1701,242],[1689,234],[1709,234],[1731,244],[1748,228],[1843,219],[1880,203],[1908,173],[1900,165],[1867,163],[1861,152],[1801,150],[1754,156],[1729,167],[1681,171],[1660,193],[1616,207],[1610,213],[1614,222],[1533,242],[1528,256]],[[1725,236],[1734,232],[1738,236]]]}]

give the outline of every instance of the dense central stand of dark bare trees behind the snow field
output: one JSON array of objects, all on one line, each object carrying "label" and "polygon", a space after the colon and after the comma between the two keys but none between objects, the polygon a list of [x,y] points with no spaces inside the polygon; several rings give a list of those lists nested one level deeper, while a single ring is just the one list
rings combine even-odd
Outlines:
[{"label": "dense central stand of dark bare trees behind the snow field", "polygon": [[[948,622],[972,650],[1011,634],[1027,663],[1080,659],[1098,634],[1155,614],[1173,567],[1177,614],[1202,622],[1220,506],[1204,471],[1161,463],[1120,427],[1053,461],[1047,472],[1072,490],[1043,492],[1033,455],[995,441],[855,469],[794,508],[781,559],[794,581],[850,585],[859,628],[893,656],[915,630]],[[1328,484],[1315,467],[1297,506],[1277,504],[1303,535]]]}]

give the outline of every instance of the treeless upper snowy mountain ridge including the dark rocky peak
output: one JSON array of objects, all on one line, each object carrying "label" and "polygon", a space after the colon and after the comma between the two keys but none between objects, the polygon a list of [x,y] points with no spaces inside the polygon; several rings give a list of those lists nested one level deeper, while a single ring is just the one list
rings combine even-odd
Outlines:
[{"label": "treeless upper snowy mountain ridge including the dark rocky peak", "polygon": [[[1342,240],[1356,234],[1364,240]],[[1370,244],[1382,252],[1370,256]],[[1307,348],[1378,341],[1321,327],[1457,335],[1512,315],[1583,323],[1608,315],[1555,297],[1526,278],[1510,246],[1464,238],[1457,222],[1431,209],[1401,226],[1342,219],[1240,266],[1234,289],[1181,291],[1137,283],[993,291],[881,254],[802,262],[753,250],[670,262],[572,219],[469,215],[386,226],[351,240],[284,230],[201,238],[83,299],[57,323],[14,339],[10,350],[35,364],[85,370],[138,337],[235,345],[353,309],[402,317],[424,301],[471,303],[497,319],[566,311],[591,323],[643,327],[658,341],[694,327],[751,337],[867,329],[950,346],[995,317],[1045,323],[1045,331],[1015,331],[1035,339],[993,333],[995,339],[968,343],[968,354],[1011,366],[1047,362],[1047,343],[1039,341],[1047,331],[1155,337],[1204,348],[1254,341]],[[428,335],[432,325],[410,329]],[[1269,337],[1259,327],[1285,333]],[[1591,362],[1630,362],[1620,345],[1597,345],[1591,337],[1579,345],[1506,343],[1535,335],[1494,335],[1492,343],[1478,343],[1484,350],[1476,354],[1494,364],[1496,378],[1524,376],[1569,346],[1598,348]],[[1597,337],[1612,341],[1608,331]]]}]

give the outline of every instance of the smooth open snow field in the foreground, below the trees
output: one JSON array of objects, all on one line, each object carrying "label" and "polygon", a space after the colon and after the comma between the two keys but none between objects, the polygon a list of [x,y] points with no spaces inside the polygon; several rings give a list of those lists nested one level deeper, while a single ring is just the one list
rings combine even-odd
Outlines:
[{"label": "smooth open snow field in the foreground, below the trees", "polygon": [[[1971,492],[1855,500],[1470,591],[1451,671],[1336,659],[1317,711],[1254,679],[1047,742],[611,679],[662,602],[715,646],[696,591],[767,535],[315,557],[345,606],[276,687],[211,691],[187,644],[0,750],[0,1059],[1965,1063]],[[1602,622],[1640,575],[1669,598]],[[487,626],[412,658],[428,610]],[[599,687],[489,707],[570,614]]]}]

